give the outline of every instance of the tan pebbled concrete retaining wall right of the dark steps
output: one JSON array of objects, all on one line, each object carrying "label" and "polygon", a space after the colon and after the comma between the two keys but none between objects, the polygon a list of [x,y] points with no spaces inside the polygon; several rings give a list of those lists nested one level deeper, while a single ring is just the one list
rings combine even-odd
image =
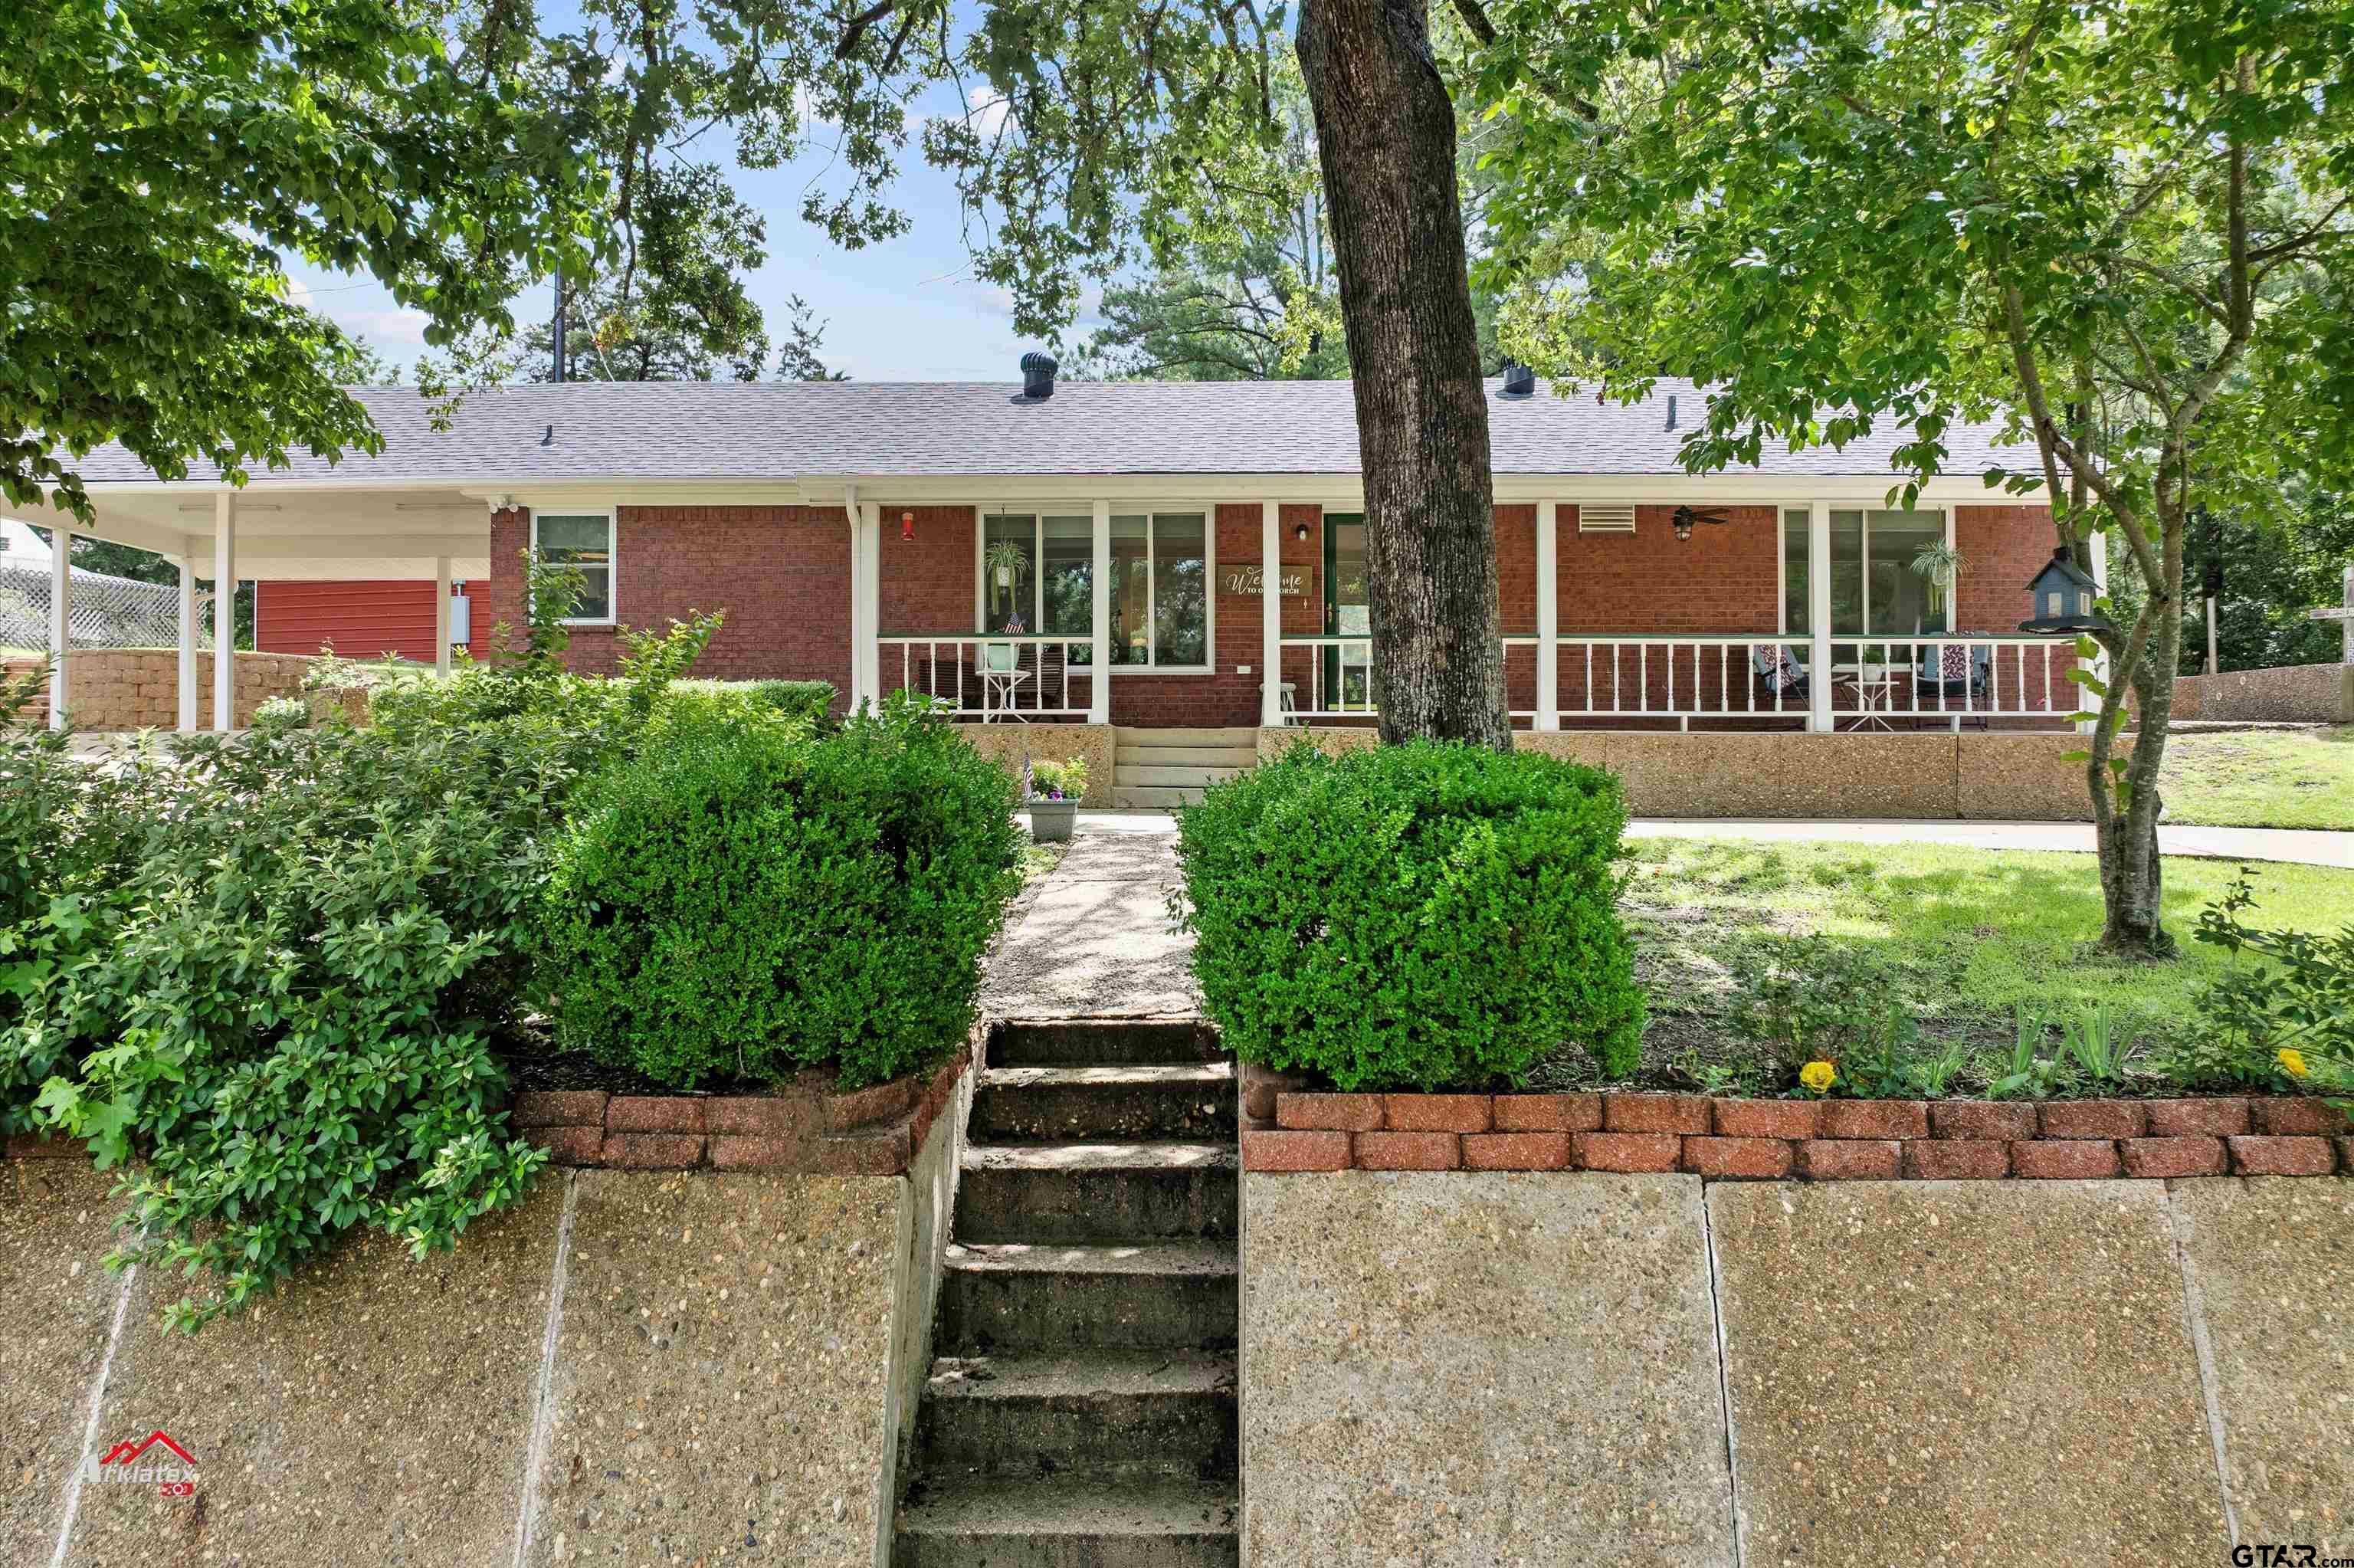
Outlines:
[{"label": "tan pebbled concrete retaining wall right of the dark steps", "polygon": [[2354,1552],[2354,1180],[1243,1177],[1243,1561]]}]

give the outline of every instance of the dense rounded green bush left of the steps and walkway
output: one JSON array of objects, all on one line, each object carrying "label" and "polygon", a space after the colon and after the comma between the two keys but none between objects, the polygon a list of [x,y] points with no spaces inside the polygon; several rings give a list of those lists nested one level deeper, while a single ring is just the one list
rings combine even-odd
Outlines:
[{"label": "dense rounded green bush left of the steps and walkway", "polygon": [[824,739],[687,709],[556,855],[558,1036],[678,1088],[895,1078],[965,1038],[1017,855],[1005,775],[906,706]]}]

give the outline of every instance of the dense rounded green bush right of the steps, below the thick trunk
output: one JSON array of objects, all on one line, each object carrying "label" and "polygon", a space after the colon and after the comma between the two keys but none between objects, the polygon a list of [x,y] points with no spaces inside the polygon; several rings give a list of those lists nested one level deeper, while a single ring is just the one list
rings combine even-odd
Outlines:
[{"label": "dense rounded green bush right of the steps, below the thick trunk", "polygon": [[1634,1071],[1643,994],[1612,775],[1535,753],[1311,746],[1177,824],[1193,975],[1226,1045],[1354,1088],[1518,1081],[1582,1045]]}]

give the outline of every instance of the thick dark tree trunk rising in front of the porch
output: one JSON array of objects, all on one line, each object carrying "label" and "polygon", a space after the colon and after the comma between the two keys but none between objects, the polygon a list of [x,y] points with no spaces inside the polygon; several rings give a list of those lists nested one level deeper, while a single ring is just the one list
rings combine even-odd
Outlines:
[{"label": "thick dark tree trunk rising in front of the porch", "polygon": [[1427,7],[1306,0],[1299,71],[1349,327],[1382,739],[1509,751],[1488,393]]}]

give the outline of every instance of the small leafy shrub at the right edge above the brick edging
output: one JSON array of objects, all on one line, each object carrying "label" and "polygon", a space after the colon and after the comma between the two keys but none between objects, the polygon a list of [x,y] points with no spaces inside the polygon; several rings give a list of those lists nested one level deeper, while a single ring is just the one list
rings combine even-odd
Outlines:
[{"label": "small leafy shrub at the right edge above the brick edging", "polygon": [[[2156,1067],[2185,1088],[2276,1088],[2354,1099],[2354,923],[2333,937],[2260,930],[2253,873],[2199,913],[2199,939],[2234,958],[2199,994],[2203,1029],[2177,1038]],[[2269,958],[2241,968],[2243,954]],[[2354,1107],[2349,1107],[2354,1109]]]}]

